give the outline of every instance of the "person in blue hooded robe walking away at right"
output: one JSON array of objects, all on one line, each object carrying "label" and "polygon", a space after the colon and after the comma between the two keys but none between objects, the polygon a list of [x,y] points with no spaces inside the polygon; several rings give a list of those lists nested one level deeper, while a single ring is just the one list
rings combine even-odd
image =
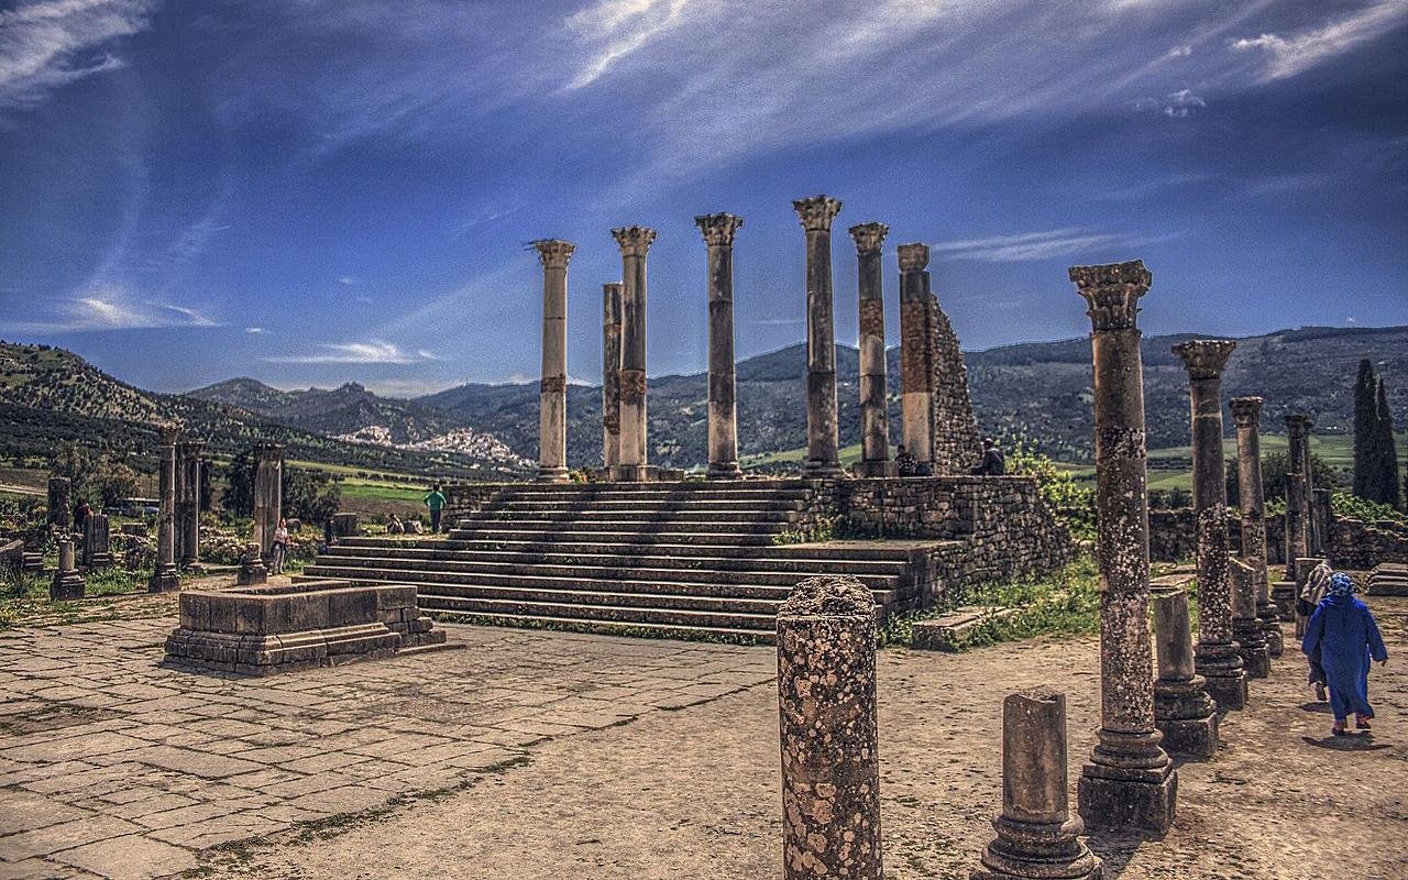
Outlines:
[{"label": "person in blue hooded robe walking away at right", "polygon": [[1329,684],[1329,707],[1335,712],[1332,734],[1345,734],[1345,721],[1354,712],[1354,727],[1367,731],[1374,708],[1369,705],[1369,662],[1388,662],[1388,649],[1369,605],[1354,598],[1354,582],[1336,572],[1325,598],[1315,607],[1301,650],[1321,656]]}]

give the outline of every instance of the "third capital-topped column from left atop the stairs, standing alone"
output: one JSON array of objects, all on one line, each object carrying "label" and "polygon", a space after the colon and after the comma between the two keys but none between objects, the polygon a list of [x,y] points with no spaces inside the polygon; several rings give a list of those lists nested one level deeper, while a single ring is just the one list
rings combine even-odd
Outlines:
[{"label": "third capital-topped column from left atop the stairs, standing alone", "polygon": [[736,480],[738,406],[734,398],[734,235],[736,214],[705,214],[694,222],[708,245],[708,479]]}]

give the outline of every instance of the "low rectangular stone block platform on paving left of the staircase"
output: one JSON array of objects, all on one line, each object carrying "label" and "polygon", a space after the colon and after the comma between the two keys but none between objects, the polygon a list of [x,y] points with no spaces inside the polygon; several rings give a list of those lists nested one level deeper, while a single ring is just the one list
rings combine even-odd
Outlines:
[{"label": "low rectangular stone block platform on paving left of the staircase", "polygon": [[439,646],[445,634],[408,584],[315,580],[189,590],[166,659],[215,672],[270,676]]}]

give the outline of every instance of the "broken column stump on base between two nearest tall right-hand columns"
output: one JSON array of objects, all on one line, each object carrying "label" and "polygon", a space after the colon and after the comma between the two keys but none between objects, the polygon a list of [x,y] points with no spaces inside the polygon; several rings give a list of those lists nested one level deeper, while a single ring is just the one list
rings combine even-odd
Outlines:
[{"label": "broken column stump on base between two nearest tall right-hand columns", "polygon": [[1153,717],[1163,732],[1163,748],[1190,760],[1212,758],[1218,750],[1218,707],[1208,697],[1207,681],[1193,667],[1187,593],[1153,593],[1153,632],[1159,645]]}]

